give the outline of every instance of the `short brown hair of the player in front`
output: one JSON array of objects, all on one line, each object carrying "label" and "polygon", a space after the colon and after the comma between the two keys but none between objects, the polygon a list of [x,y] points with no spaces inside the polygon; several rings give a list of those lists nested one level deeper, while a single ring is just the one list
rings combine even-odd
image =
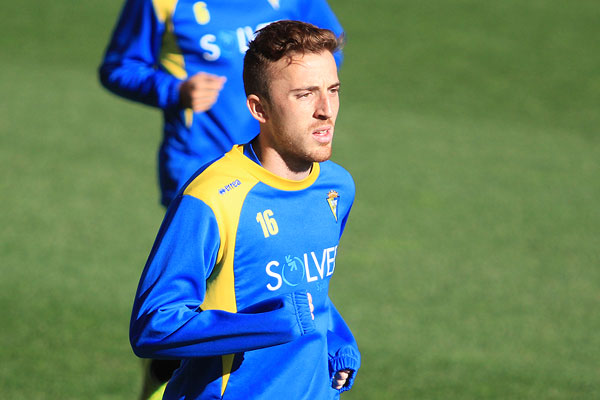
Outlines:
[{"label": "short brown hair of the player in front", "polygon": [[291,53],[332,54],[340,50],[343,36],[339,38],[329,29],[317,28],[300,21],[277,21],[258,31],[248,44],[244,56],[244,90],[246,96],[255,94],[269,99],[267,68]]}]

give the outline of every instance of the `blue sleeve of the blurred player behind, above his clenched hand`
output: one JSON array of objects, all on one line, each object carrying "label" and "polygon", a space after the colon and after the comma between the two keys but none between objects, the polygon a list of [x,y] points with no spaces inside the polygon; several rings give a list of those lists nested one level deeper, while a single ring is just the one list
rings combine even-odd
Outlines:
[{"label": "blue sleeve of the blurred player behind, above his clenched hand", "polygon": [[181,81],[159,65],[164,30],[151,0],[127,0],[100,65],[102,85],[150,106],[177,106]]}]

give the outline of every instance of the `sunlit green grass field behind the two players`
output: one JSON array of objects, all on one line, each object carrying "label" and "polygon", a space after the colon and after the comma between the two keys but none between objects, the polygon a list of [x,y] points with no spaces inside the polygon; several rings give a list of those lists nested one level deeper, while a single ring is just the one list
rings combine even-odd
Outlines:
[{"label": "sunlit green grass field behind the two players", "polygon": [[[343,398],[600,398],[600,4],[331,5],[358,192],[331,297],[363,353]],[[160,115],[97,82],[120,6],[2,6],[2,398],[138,393]]]}]

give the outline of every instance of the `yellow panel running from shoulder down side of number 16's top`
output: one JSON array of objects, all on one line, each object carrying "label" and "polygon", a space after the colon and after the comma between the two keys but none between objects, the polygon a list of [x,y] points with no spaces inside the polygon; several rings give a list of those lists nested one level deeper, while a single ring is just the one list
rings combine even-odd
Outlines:
[{"label": "yellow panel running from shoulder down side of number 16's top", "polygon": [[[233,271],[235,238],[244,199],[258,181],[252,175],[245,174],[243,168],[239,168],[239,165],[236,164],[238,164],[236,160],[230,157],[222,158],[207,168],[184,192],[202,200],[211,207],[219,223],[221,245],[217,264],[206,282],[206,296],[200,306],[203,310],[237,312]],[[235,175],[232,175],[231,172]],[[219,194],[220,188],[237,179],[242,182],[240,186],[226,192],[226,194]],[[229,382],[233,359],[233,354],[222,357],[221,396],[225,394],[225,388]]]}]

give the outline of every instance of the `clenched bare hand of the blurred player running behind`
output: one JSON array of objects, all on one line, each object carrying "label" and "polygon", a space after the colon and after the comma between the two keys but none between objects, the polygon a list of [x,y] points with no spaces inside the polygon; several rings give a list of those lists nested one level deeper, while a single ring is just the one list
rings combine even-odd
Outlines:
[{"label": "clenched bare hand of the blurred player running behind", "polygon": [[191,108],[194,112],[210,109],[217,101],[221,89],[227,80],[224,76],[199,72],[179,86],[179,102],[182,108]]}]

